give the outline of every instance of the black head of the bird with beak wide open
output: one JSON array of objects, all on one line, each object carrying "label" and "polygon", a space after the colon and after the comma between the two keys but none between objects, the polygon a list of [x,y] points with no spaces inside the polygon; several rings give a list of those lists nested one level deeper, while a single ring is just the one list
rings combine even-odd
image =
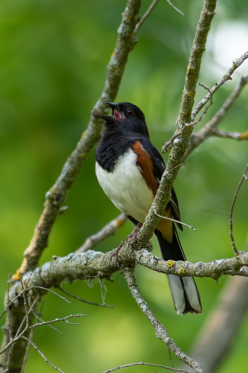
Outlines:
[{"label": "black head of the bird with beak wide open", "polygon": [[120,129],[122,132],[135,132],[149,137],[145,116],[138,106],[130,102],[106,102],[112,109],[112,116],[100,115],[105,119],[107,128]]}]

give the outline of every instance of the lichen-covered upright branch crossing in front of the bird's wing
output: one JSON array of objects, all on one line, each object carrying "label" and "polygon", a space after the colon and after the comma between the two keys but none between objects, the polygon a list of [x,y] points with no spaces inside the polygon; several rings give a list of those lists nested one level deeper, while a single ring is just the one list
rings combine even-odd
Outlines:
[{"label": "lichen-covered upright branch crossing in front of the bird's wing", "polygon": [[[178,131],[183,127],[184,123],[190,123],[191,121],[191,111],[194,104],[196,84],[199,77],[202,54],[205,49],[210,24],[215,14],[215,6],[216,0],[204,1],[203,9],[196,29],[196,35],[193,41],[189,65],[187,68],[180,113],[176,123]],[[142,247],[148,244],[148,241],[160,220],[160,217],[154,213],[154,210],[161,215],[162,211],[165,209],[165,206],[170,201],[170,191],[178,174],[179,168],[181,164],[183,164],[183,156],[189,147],[189,138],[191,132],[192,127],[188,127],[186,131],[184,131],[184,133],[174,141],[174,147],[171,150],[166,170],[162,176],[161,184],[157,191],[157,195],[140,232],[137,234],[137,243]]]}]

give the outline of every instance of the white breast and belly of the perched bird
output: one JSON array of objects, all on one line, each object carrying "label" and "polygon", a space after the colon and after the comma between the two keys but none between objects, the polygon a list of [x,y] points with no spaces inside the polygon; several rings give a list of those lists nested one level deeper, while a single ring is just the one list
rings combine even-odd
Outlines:
[{"label": "white breast and belly of the perched bird", "polygon": [[119,157],[113,172],[107,172],[96,162],[96,177],[117,209],[144,223],[154,196],[136,166],[136,158],[130,149]]}]

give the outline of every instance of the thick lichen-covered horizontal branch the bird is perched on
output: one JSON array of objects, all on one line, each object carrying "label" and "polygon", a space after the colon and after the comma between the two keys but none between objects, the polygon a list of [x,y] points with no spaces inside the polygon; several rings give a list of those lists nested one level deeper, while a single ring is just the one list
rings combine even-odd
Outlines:
[{"label": "thick lichen-covered horizontal branch the bird is perched on", "polygon": [[[189,261],[162,260],[149,253],[145,248],[134,250],[130,240],[118,253],[119,268],[116,267],[115,250],[108,253],[88,250],[86,253],[69,254],[58,257],[37,268],[30,278],[30,273],[23,276],[23,283],[29,280],[29,286],[43,288],[58,287],[62,282],[72,283],[77,280],[92,278],[111,279],[111,275],[122,267],[135,267],[139,263],[151,270],[166,275],[210,277],[218,280],[222,275],[247,276],[248,253],[239,252],[238,256],[228,259],[214,260],[209,263],[190,263]],[[20,286],[17,284],[17,286]],[[14,286],[15,288],[15,286]],[[35,289],[39,292],[39,288]],[[18,289],[12,289],[18,292]],[[42,289],[42,293],[44,291]]]}]

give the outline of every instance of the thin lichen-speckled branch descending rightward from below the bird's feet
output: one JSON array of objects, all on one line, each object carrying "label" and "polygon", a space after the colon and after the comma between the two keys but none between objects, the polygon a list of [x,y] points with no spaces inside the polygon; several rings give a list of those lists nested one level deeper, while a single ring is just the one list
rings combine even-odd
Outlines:
[{"label": "thin lichen-speckled branch descending rightward from below the bird's feet", "polygon": [[200,364],[197,363],[197,361],[194,361],[193,359],[191,359],[186,354],[184,354],[184,352],[180,350],[180,348],[170,338],[165,327],[162,324],[160,324],[160,322],[158,322],[158,320],[156,319],[152,311],[149,309],[144,299],[141,297],[141,294],[136,284],[132,269],[126,267],[122,270],[122,273],[126,279],[128,288],[131,291],[131,294],[133,298],[135,299],[137,305],[139,306],[142,313],[144,313],[144,315],[146,316],[146,318],[149,320],[152,327],[154,328],[156,337],[160,341],[164,342],[165,345],[167,345],[167,347],[177,356],[177,358],[183,361],[188,366],[190,366],[194,370],[194,372],[204,373]]}]

